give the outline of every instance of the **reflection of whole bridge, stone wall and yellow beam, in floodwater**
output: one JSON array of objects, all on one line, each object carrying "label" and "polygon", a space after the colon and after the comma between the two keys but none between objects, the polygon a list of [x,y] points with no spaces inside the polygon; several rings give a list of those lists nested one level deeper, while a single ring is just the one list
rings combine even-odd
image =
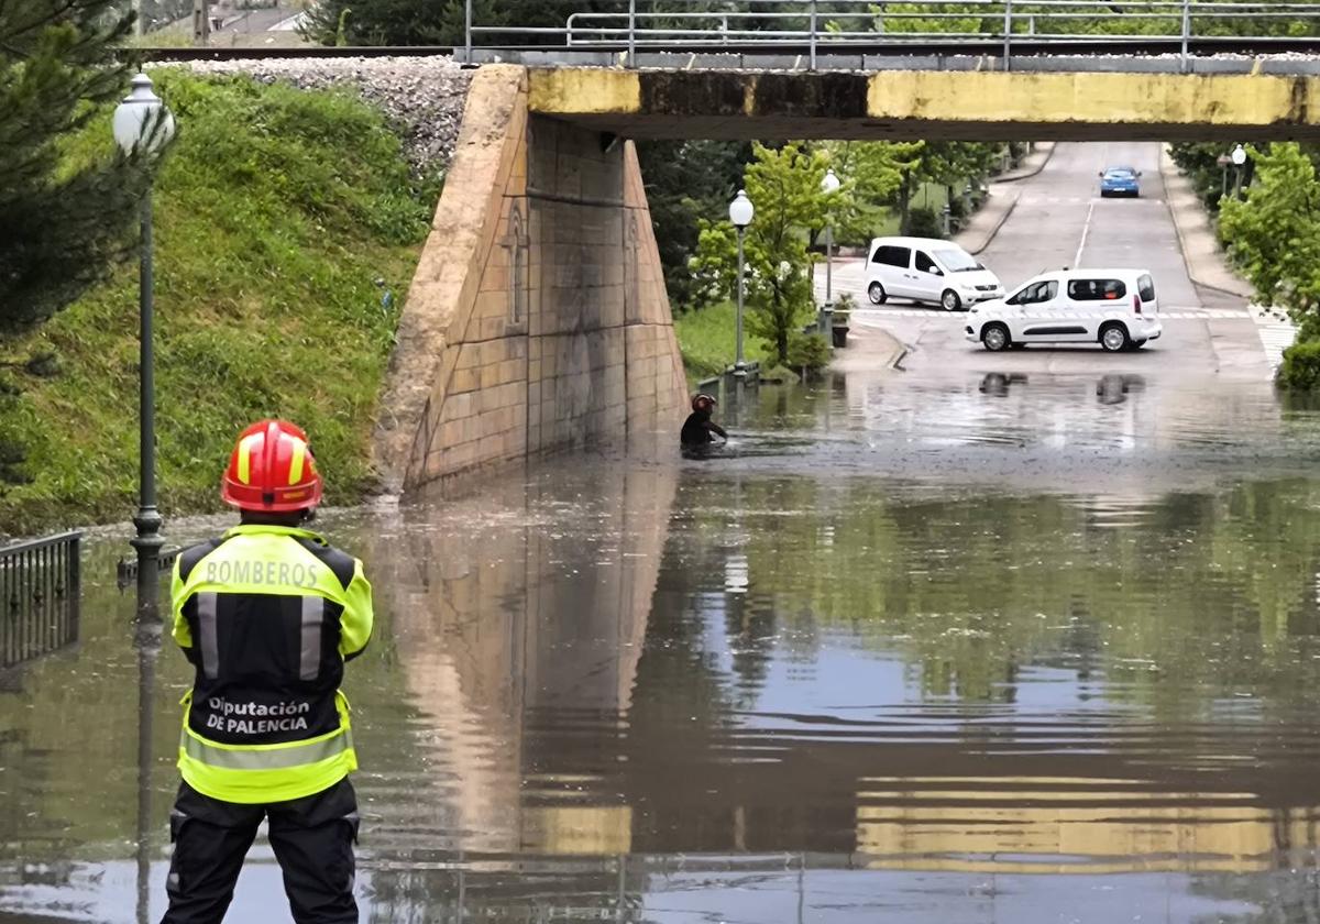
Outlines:
[{"label": "reflection of whole bridge, stone wall and yellow beam, in floodwater", "polygon": [[1245,762],[1206,772],[1206,752],[1267,752],[1265,731],[1210,741],[1210,726],[1093,714],[1043,734],[1011,706],[857,727],[737,715],[729,678],[693,663],[710,624],[755,635],[759,616],[741,594],[694,603],[680,576],[722,573],[722,553],[665,548],[672,474],[598,479],[576,498],[486,495],[461,535],[409,529],[425,537],[396,549],[395,573],[375,556],[428,762],[428,795],[395,800],[379,841],[496,878],[576,858],[587,891],[615,874],[632,888],[622,871],[644,865],[627,854],[1038,874],[1313,865],[1315,784]]}]

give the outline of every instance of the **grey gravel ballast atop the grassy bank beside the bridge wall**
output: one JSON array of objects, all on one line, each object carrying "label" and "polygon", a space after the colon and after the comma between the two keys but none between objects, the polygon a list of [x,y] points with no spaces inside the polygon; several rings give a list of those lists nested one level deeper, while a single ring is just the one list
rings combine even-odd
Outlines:
[{"label": "grey gravel ballast atop the grassy bank beside the bridge wall", "polygon": [[471,71],[451,58],[260,58],[190,61],[195,74],[247,74],[263,83],[285,81],[300,90],[348,86],[400,125],[418,173],[447,170],[463,119]]}]

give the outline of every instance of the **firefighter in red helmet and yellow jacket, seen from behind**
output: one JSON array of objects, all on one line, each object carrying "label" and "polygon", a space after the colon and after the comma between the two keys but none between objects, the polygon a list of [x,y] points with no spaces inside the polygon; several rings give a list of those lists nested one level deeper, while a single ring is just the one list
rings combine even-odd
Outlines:
[{"label": "firefighter in red helmet and yellow jacket, seen from behind", "polygon": [[195,678],[162,924],[224,919],[263,818],[297,924],[358,921],[358,759],[339,682],[371,638],[371,585],[306,528],[321,491],[306,433],[253,424],[222,479],[239,525],[174,564],[173,635]]}]

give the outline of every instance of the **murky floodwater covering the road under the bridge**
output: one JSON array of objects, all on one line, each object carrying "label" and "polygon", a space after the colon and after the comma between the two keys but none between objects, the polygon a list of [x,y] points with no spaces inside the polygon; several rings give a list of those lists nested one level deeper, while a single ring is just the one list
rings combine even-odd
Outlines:
[{"label": "murky floodwater covering the road under the bridge", "polygon": [[[1320,414],[1007,375],[725,414],[717,458],[323,517],[379,611],[363,921],[1320,920]],[[0,675],[4,924],[162,911],[189,673],[127,552]],[[230,920],[289,920],[264,841]]]}]

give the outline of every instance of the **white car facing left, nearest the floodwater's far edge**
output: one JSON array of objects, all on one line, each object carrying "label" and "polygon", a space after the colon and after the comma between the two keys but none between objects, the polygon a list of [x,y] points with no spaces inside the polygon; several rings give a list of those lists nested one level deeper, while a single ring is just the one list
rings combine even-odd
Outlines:
[{"label": "white car facing left, nearest the floodwater's far edge", "polygon": [[1147,269],[1061,269],[1007,298],[972,309],[966,335],[986,350],[1030,343],[1100,343],[1110,352],[1159,339],[1155,280]]}]

